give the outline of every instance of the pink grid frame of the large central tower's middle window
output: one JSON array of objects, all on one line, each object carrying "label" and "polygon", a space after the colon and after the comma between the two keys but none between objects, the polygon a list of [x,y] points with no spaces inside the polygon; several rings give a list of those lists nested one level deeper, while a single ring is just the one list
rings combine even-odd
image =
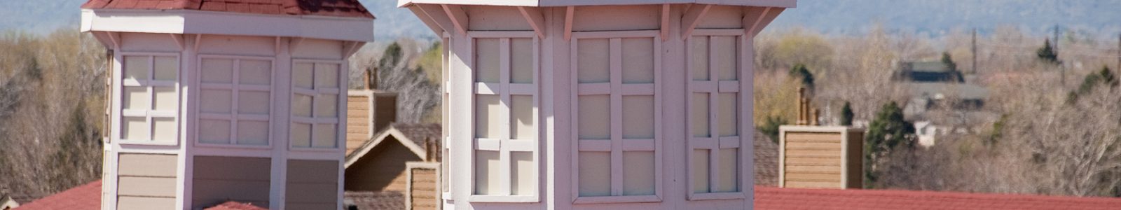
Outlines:
[{"label": "pink grid frame of the large central tower's middle window", "polygon": [[[622,39],[624,38],[650,38],[654,44],[654,83],[652,84],[632,84],[623,85],[622,82]],[[608,39],[610,42],[609,56],[612,65],[609,68],[610,82],[586,84],[581,85],[578,80],[578,40],[580,39]],[[617,40],[618,39],[618,40]],[[663,159],[663,132],[661,132],[661,111],[663,111],[663,83],[661,79],[661,45],[664,41],[661,39],[661,34],[659,30],[620,30],[620,31],[587,31],[587,32],[572,32],[572,39],[569,40],[569,85],[573,93],[571,94],[571,135],[572,135],[572,147],[569,150],[571,155],[571,191],[573,204],[592,204],[592,203],[629,203],[629,202],[661,202],[663,201],[663,179],[665,174],[663,173],[663,165],[665,161]],[[615,65],[618,64],[618,65]],[[583,86],[583,87],[582,87]],[[619,86],[619,87],[613,87]],[[638,88],[628,88],[623,86],[634,86]],[[582,94],[587,92],[586,95],[603,95],[604,93],[610,97],[611,106],[611,139],[610,144],[606,145],[581,145],[580,142],[580,106],[577,105],[578,98]],[[633,92],[639,92],[643,94],[636,94]],[[628,94],[629,93],[629,94]],[[645,94],[649,93],[649,94]],[[654,139],[650,140],[652,143],[650,145],[639,145],[631,146],[624,145],[624,139],[622,136],[622,96],[624,95],[650,95],[654,96]],[[603,141],[603,140],[595,140]],[[646,140],[636,140],[646,141]],[[606,147],[606,152],[611,152],[611,193],[612,195],[604,197],[581,197],[580,195],[580,153],[582,150],[589,152],[604,152],[603,147]],[[622,195],[623,193],[623,152],[626,151],[652,151],[654,152],[654,166],[655,166],[655,191],[654,194],[649,195]]]}]

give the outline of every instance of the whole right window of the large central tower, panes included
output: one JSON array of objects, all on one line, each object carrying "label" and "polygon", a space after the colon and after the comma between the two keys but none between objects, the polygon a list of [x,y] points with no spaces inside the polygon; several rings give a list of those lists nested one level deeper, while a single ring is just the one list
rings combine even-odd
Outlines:
[{"label": "whole right window of the large central tower, panes included", "polygon": [[[745,59],[742,30],[698,30],[688,39],[689,199],[742,199],[740,108],[750,83],[740,83]],[[712,36],[703,36],[712,35]],[[750,63],[748,63],[750,64]]]}]

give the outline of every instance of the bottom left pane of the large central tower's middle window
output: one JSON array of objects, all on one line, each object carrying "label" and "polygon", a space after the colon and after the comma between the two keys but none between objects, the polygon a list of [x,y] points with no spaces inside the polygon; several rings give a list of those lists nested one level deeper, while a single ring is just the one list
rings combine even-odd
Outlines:
[{"label": "bottom left pane of the large central tower's middle window", "polygon": [[611,195],[611,153],[580,152],[580,195]]}]

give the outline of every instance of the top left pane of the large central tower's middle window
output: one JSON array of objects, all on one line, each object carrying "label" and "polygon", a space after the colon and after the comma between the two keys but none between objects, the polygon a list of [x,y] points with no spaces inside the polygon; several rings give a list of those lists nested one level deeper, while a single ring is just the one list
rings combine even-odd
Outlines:
[{"label": "top left pane of the large central tower's middle window", "polygon": [[576,79],[580,83],[611,82],[611,44],[608,39],[576,41]]}]

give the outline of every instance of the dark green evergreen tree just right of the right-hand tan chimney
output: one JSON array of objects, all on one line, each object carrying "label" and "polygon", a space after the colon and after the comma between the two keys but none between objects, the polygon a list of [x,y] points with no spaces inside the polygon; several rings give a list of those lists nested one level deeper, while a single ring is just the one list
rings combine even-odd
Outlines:
[{"label": "dark green evergreen tree just right of the right-hand tan chimney", "polygon": [[881,175],[874,165],[883,162],[892,150],[914,146],[915,125],[904,121],[904,111],[896,102],[884,104],[864,135],[864,188],[871,188]]}]

